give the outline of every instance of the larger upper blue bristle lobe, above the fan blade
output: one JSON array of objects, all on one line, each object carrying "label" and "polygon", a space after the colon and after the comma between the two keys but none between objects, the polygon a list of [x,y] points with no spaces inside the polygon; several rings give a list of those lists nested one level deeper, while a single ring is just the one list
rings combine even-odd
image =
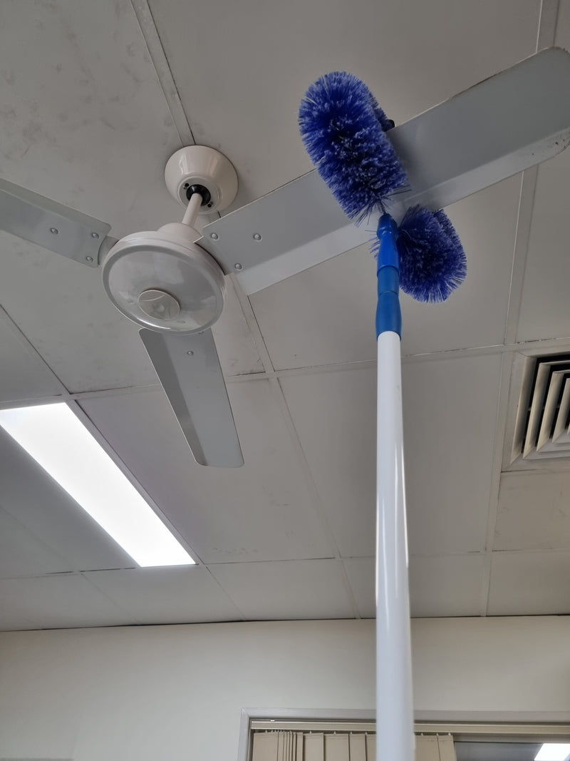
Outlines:
[{"label": "larger upper blue bristle lobe, above the fan blade", "polygon": [[346,72],[321,77],[302,99],[302,142],[351,219],[382,209],[385,197],[407,181],[385,135],[391,126],[366,84]]}]

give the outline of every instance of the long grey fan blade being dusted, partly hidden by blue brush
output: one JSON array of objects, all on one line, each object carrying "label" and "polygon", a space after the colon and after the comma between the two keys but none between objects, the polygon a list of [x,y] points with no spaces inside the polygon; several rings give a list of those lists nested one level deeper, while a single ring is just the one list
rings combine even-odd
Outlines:
[{"label": "long grey fan blade being dusted, partly hidden by blue brush", "polygon": [[[570,142],[570,55],[548,49],[388,132],[410,188],[391,212],[441,209],[551,158]],[[204,227],[200,245],[246,294],[373,236],[356,228],[316,171]],[[214,237],[212,237],[214,236]]]}]

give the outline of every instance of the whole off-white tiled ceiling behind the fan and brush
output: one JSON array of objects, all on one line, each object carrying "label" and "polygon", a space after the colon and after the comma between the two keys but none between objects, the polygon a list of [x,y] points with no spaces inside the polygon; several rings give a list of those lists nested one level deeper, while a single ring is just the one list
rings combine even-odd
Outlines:
[{"label": "whole off-white tiled ceiling behind the fan and brush", "polygon": [[[0,176],[115,237],[180,218],[163,169],[182,145],[233,161],[233,208],[308,171],[296,112],[331,69],[401,123],[570,48],[570,0],[4,0],[0,14]],[[504,455],[518,358],[570,350],[568,188],[570,151],[450,207],[467,282],[445,304],[403,298],[414,616],[570,613],[568,463],[511,470]],[[134,568],[0,435],[0,628],[373,616],[373,273],[359,248],[251,299],[230,285],[214,336],[245,465],[206,469],[100,272],[0,234],[0,406],[81,406],[198,560]]]}]

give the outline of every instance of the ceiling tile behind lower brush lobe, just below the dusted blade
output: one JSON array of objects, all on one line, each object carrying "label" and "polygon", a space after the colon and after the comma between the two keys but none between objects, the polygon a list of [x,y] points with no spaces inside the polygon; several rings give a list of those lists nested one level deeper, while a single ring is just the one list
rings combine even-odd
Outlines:
[{"label": "ceiling tile behind lower brush lobe, just below the dusted blade", "polygon": [[[404,355],[502,343],[520,184],[520,177],[511,177],[448,210],[467,253],[467,280],[444,304],[420,304],[402,295]],[[367,246],[251,300],[277,369],[376,357],[375,262]]]}]

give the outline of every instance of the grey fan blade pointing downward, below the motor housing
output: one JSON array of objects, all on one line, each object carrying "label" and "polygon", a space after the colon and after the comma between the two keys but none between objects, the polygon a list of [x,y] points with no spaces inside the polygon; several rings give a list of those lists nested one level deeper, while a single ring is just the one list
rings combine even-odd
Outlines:
[{"label": "grey fan blade pointing downward, below the motor housing", "polygon": [[179,336],[143,328],[140,336],[196,462],[243,465],[212,331]]}]

